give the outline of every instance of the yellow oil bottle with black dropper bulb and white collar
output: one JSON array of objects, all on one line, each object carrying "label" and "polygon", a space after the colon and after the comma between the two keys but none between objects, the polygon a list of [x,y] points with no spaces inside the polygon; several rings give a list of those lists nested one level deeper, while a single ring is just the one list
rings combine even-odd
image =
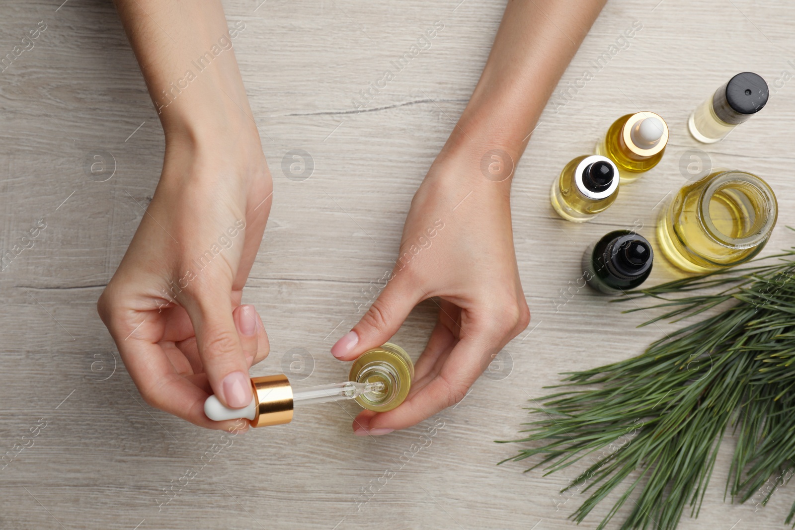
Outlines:
[{"label": "yellow oil bottle with black dropper bulb and white collar", "polygon": [[552,183],[549,199],[563,219],[584,222],[604,211],[619,195],[619,170],[600,155],[576,157]]}]

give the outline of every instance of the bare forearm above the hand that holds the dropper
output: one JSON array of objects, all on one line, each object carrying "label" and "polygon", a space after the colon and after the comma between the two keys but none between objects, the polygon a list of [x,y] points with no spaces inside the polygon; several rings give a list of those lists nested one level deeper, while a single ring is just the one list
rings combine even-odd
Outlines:
[{"label": "bare forearm above the hand that holds the dropper", "polygon": [[256,133],[219,0],[115,0],[166,140]]}]

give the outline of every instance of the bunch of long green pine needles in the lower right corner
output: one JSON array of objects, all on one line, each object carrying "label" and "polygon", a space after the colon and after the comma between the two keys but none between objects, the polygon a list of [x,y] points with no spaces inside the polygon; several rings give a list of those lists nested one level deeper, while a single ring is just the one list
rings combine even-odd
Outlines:
[{"label": "bunch of long green pine needles in the lower right corner", "polygon": [[[590,493],[573,520],[582,522],[615,490],[620,497],[600,530],[623,505],[630,514],[620,528],[673,530],[685,509],[698,516],[731,429],[737,446],[724,499],[754,497],[765,505],[795,469],[793,277],[795,247],[742,269],[628,293],[620,300],[651,297],[659,302],[651,308],[666,311],[642,326],[721,307],[638,357],[565,373],[564,384],[552,387],[562,391],[542,398],[541,408],[529,408],[544,416],[524,424],[527,435],[501,442],[536,447],[502,462],[540,455],[530,470],[550,474],[595,461],[561,490]],[[795,503],[786,523],[795,527]]]}]

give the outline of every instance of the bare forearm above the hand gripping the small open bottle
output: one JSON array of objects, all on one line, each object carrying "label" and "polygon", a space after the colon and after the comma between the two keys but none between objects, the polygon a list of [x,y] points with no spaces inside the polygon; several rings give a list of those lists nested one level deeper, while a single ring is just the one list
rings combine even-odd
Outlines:
[{"label": "bare forearm above the hand gripping the small open bottle", "polygon": [[491,54],[446,148],[473,141],[518,161],[606,0],[509,0]]}]

